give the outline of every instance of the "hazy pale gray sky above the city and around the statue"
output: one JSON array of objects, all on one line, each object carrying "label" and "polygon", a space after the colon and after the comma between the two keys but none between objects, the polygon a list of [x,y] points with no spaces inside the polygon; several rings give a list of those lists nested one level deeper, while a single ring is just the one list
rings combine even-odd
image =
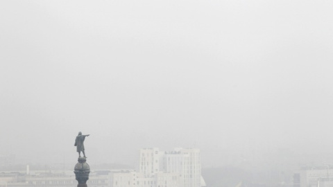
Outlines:
[{"label": "hazy pale gray sky above the city and around the statue", "polygon": [[[0,154],[332,147],[333,1],[1,1]],[[219,165],[219,163],[216,163]]]}]

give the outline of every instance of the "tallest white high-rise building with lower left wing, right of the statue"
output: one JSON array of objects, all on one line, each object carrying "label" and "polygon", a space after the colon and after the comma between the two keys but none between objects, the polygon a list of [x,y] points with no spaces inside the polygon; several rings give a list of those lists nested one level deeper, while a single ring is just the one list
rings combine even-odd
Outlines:
[{"label": "tallest white high-rise building with lower left wing, right of the statue", "polygon": [[158,148],[139,150],[138,172],[116,173],[112,187],[202,187],[200,150]]}]

